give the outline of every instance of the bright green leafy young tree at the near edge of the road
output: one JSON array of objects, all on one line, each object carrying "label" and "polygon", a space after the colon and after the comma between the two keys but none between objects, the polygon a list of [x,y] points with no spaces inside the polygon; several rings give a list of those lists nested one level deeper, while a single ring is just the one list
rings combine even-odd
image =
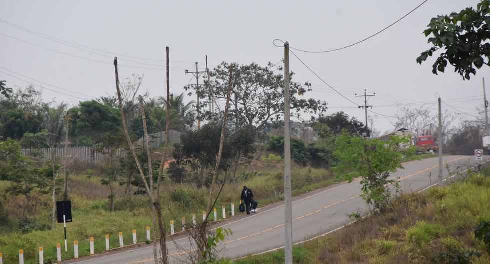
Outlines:
[{"label": "bright green leafy young tree at the near edge of the road", "polygon": [[[356,171],[361,177],[361,197],[374,209],[383,208],[391,197],[388,185],[399,188],[395,179],[390,179],[390,173],[402,169],[401,159],[403,153],[398,151],[401,144],[408,144],[407,137],[391,136],[388,141],[378,138],[365,140],[361,136],[351,136],[343,133],[335,142],[337,149],[334,152],[338,163],[337,171]],[[408,154],[413,152],[410,147]]]}]

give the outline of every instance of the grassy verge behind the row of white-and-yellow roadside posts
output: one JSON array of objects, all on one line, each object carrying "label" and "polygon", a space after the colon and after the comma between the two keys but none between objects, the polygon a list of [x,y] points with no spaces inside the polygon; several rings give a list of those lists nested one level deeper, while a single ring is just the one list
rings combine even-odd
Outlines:
[{"label": "grassy verge behind the row of white-and-yellow roadside posts", "polygon": [[[260,206],[283,199],[283,175],[279,165],[260,166],[247,168],[248,173],[241,171],[236,179],[227,183],[223,189],[217,208],[226,205],[230,214],[231,202],[236,204],[238,213],[239,195],[243,185],[247,185],[254,191]],[[257,171],[257,172],[249,172]],[[79,255],[89,255],[89,237],[95,239],[95,252],[105,250],[105,234],[110,235],[111,248],[119,246],[118,232],[124,234],[124,244],[132,244],[132,229],[137,230],[138,241],[146,240],[145,227],[151,226],[151,214],[149,203],[145,196],[118,198],[115,201],[115,210],[107,210],[108,187],[100,184],[101,177],[93,175],[87,179],[84,175],[70,176],[70,197],[73,206],[73,222],[67,224],[68,252],[62,255],[63,259],[73,258],[73,240],[79,241]],[[344,178],[334,176],[329,170],[311,167],[293,167],[292,185],[293,194],[297,195],[314,189],[340,182]],[[187,222],[192,219],[192,213],[197,215],[197,220],[202,219],[202,210],[207,204],[208,190],[197,189],[188,184],[174,184],[165,182],[162,193],[164,204],[164,218],[174,219],[180,222],[181,217],[186,217]],[[6,182],[0,182],[0,188],[7,186]],[[0,189],[1,190],[1,189]],[[123,187],[116,187],[116,195],[122,196]],[[49,202],[49,197],[45,197]],[[10,203],[7,206],[14,206]],[[10,208],[6,208],[7,211]],[[10,215],[14,218],[14,215]],[[212,219],[212,215],[210,219]],[[229,217],[229,216],[228,216]],[[38,222],[49,223],[50,211],[44,208],[37,216]],[[218,209],[218,218],[221,218],[221,210]],[[15,220],[12,220],[12,222]],[[12,223],[11,226],[15,226]],[[167,224],[169,232],[169,223]],[[56,243],[63,246],[62,224],[50,230],[34,230],[22,233],[12,230],[13,227],[0,227],[0,252],[3,253],[5,263],[18,262],[18,250],[24,250],[25,263],[38,262],[38,247],[44,247],[45,262],[56,259]],[[180,231],[181,226],[176,224],[175,231]],[[64,249],[64,248],[63,248]],[[64,251],[64,250],[62,250]]]}]

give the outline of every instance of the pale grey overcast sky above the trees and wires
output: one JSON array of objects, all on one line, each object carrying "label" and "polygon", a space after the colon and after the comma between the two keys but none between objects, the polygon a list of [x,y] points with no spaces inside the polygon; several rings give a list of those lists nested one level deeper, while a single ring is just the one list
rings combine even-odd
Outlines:
[{"label": "pale grey overcast sky above the trees and wires", "polygon": [[[120,54],[120,65],[142,67],[120,66],[121,78],[144,74],[142,91],[157,96],[163,95],[166,85],[164,67],[159,65],[164,64],[165,46],[169,46],[171,92],[180,94],[184,85],[195,82],[184,69],[194,69],[195,61],[204,69],[205,55],[210,67],[221,61],[276,63],[282,58],[283,49],[272,45],[275,38],[287,40],[296,48],[333,49],[379,31],[422,1],[0,0],[0,19],[99,53],[63,45],[0,22],[0,71],[42,85],[44,100],[55,98],[56,102],[76,105],[80,101],[77,97],[91,99],[115,92],[114,54],[102,52],[109,51]],[[415,59],[429,48],[422,31],[430,18],[475,7],[478,2],[429,0],[393,27],[361,44],[331,53],[296,54],[328,84],[358,104],[362,101],[354,93],[364,89],[375,92],[369,104],[376,113],[394,115],[396,107],[386,105],[395,102],[418,103],[412,107],[428,102],[424,107],[432,107],[435,112],[434,93],[438,93],[459,111],[477,115],[475,107],[483,101],[481,78],[487,76],[490,81],[488,67],[463,81],[452,72],[452,66],[435,76],[431,72],[433,58],[421,66]],[[361,121],[365,119],[362,109],[326,87],[292,55],[290,67],[296,73],[296,81],[313,84],[313,91],[305,97],[327,101],[327,113],[345,111]],[[0,79],[6,80],[7,86],[28,85],[3,72]],[[389,121],[392,118],[369,115],[374,117],[375,129],[393,128]]]}]

